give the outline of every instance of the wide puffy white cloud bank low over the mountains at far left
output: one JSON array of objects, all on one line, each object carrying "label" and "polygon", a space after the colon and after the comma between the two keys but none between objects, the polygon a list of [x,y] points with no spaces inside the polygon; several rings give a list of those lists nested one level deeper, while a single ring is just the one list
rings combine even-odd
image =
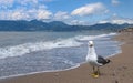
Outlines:
[{"label": "wide puffy white cloud bank low over the mountains at far left", "polygon": [[2,11],[0,12],[0,19],[1,20],[44,20],[50,19],[52,15],[52,12],[50,12],[47,9],[32,9],[32,10],[24,10],[24,9],[16,9],[16,10],[9,10],[9,11]]}]

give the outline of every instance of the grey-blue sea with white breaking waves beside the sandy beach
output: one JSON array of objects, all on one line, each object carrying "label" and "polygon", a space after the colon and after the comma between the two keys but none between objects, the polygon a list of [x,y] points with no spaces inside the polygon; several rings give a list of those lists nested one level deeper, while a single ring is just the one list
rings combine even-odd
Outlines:
[{"label": "grey-blue sea with white breaking waves beside the sandy beach", "polygon": [[0,79],[78,68],[85,63],[89,40],[98,55],[121,53],[108,31],[0,32]]}]

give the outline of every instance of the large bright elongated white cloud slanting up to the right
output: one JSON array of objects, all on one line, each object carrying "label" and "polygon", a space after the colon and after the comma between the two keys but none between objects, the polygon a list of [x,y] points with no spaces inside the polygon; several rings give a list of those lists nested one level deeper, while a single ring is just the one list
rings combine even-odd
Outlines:
[{"label": "large bright elongated white cloud slanting up to the right", "polygon": [[80,7],[73,10],[71,14],[83,17],[83,15],[99,14],[99,13],[105,13],[105,12],[106,12],[106,9],[103,6],[103,3],[96,2],[96,3],[91,3],[91,4]]}]

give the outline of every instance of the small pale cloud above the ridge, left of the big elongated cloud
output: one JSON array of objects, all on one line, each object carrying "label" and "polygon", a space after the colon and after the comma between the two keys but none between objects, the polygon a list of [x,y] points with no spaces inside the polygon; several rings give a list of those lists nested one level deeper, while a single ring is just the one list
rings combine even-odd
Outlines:
[{"label": "small pale cloud above the ridge, left of the big elongated cloud", "polygon": [[55,14],[54,14],[54,20],[68,20],[70,19],[71,17],[69,15],[68,12],[62,12],[62,11],[58,11]]}]

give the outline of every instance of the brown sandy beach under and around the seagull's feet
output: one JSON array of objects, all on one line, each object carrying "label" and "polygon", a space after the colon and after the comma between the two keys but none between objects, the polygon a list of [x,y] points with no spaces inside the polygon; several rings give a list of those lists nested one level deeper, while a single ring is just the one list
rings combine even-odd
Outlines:
[{"label": "brown sandy beach under and around the seagull's feet", "polygon": [[90,75],[89,63],[83,63],[72,70],[2,79],[0,83],[133,83],[133,33],[121,33],[116,40],[124,42],[122,53],[110,58],[112,62],[100,68],[98,79]]}]

